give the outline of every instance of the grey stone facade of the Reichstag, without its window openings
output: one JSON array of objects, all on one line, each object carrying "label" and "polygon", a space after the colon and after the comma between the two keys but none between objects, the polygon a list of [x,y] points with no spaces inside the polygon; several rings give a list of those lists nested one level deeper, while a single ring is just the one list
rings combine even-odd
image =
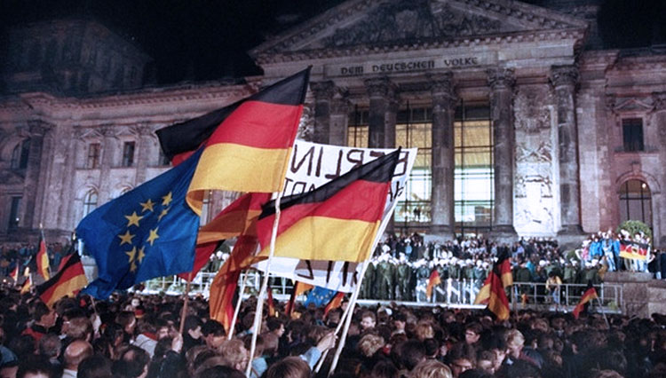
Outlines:
[{"label": "grey stone facade of the Reichstag, without its window openings", "polygon": [[[614,227],[621,186],[639,179],[652,196],[655,244],[666,247],[666,55],[591,50],[599,46],[596,25],[587,22],[596,5],[555,8],[510,0],[349,0],[250,51],[265,75],[246,84],[123,91],[136,83],[89,81],[76,88],[121,91],[78,98],[27,85],[0,98],[0,239],[33,234],[40,222],[66,235],[83,216],[86,193],[94,190],[101,204],[166,169],[156,129],[311,65],[299,138],[343,145],[349,114],[361,107],[369,146],[394,146],[400,109],[432,109],[431,221],[410,226],[440,236],[456,231],[453,124],[464,101],[490,110],[496,237],[575,240]],[[126,56],[146,61],[136,51]],[[4,77],[20,87],[19,73],[5,70]],[[642,151],[625,151],[626,119],[641,120]],[[12,153],[28,138],[26,167],[12,168]],[[125,167],[130,142],[135,153]],[[95,144],[99,165],[91,168]],[[216,195],[211,209],[229,200]],[[19,197],[20,209],[12,210]]]}]

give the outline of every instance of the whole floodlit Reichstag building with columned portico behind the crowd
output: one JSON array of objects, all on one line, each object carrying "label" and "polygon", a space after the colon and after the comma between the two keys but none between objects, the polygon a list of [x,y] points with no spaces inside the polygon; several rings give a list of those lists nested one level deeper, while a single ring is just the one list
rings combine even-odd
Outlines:
[{"label": "whole floodlit Reichstag building with columned portico behind the crowd", "polygon": [[[395,232],[575,238],[637,219],[666,247],[666,49],[604,49],[597,2],[544,3],[349,0],[253,48],[264,75],[238,83],[147,86],[150,57],[95,20],[13,28],[0,240],[68,238],[169,168],[155,130],[312,66],[299,138],[418,147]],[[233,199],[210,193],[202,222]]]}]

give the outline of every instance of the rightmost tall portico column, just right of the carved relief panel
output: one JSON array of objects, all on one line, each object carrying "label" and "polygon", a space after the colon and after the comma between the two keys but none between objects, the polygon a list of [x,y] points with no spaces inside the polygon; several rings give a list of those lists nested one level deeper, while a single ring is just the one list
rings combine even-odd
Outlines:
[{"label": "rightmost tall portico column, just right of the carved relief panel", "polygon": [[559,140],[559,234],[580,235],[581,185],[578,167],[578,131],[575,121],[575,88],[578,68],[551,67],[551,83],[557,101]]}]

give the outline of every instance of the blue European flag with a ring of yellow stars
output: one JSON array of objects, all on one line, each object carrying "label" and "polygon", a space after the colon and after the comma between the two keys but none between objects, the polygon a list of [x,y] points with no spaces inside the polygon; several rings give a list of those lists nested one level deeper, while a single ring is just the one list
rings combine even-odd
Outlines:
[{"label": "blue European flag with a ring of yellow stars", "polygon": [[199,216],[185,196],[201,154],[83,218],[76,235],[98,269],[84,293],[104,299],[115,289],[192,271]]}]

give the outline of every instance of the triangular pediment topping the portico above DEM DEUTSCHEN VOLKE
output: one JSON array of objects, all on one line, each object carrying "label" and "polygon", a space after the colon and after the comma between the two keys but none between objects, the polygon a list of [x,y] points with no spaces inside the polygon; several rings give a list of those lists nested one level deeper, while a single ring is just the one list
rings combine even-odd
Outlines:
[{"label": "triangular pediment topping the portico above DEM DEUTSCHEN VOLKE", "polygon": [[354,46],[428,45],[458,38],[584,29],[583,20],[507,0],[350,0],[259,45],[259,57]]}]

